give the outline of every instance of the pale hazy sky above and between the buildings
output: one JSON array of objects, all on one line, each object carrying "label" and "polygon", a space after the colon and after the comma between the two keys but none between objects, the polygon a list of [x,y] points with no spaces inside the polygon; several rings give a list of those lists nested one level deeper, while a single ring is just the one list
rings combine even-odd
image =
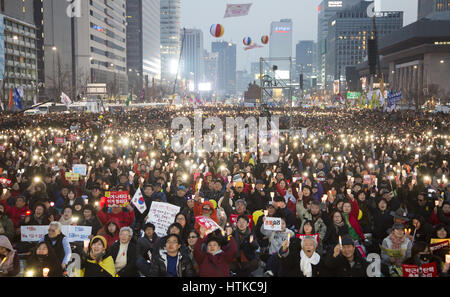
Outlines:
[{"label": "pale hazy sky above and between the buildings", "polygon": [[[404,25],[417,20],[418,0],[376,0],[383,11],[404,11]],[[204,48],[211,51],[213,41],[231,41],[237,44],[237,70],[250,71],[250,63],[269,56],[269,45],[244,51],[242,39],[249,36],[261,44],[262,35],[270,35],[270,23],[280,19],[292,19],[293,49],[300,40],[317,41],[318,6],[322,0],[181,0],[181,27],[201,29]],[[253,3],[250,13],[244,17],[223,18],[227,4]],[[220,39],[209,34],[212,24],[222,24],[225,34]],[[270,42],[270,41],[269,41]]]}]

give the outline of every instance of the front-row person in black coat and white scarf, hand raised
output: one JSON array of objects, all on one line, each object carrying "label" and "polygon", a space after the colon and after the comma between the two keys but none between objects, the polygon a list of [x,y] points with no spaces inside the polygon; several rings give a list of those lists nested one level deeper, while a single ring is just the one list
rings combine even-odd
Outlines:
[{"label": "front-row person in black coat and white scarf, hand raised", "polygon": [[303,240],[296,237],[283,242],[278,252],[281,258],[281,277],[319,277],[323,274],[323,261],[316,252],[317,241],[306,236]]}]

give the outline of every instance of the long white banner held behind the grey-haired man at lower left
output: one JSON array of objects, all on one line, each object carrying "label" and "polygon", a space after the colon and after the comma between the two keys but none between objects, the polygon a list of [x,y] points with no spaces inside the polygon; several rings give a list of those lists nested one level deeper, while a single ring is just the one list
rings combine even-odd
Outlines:
[{"label": "long white banner held behind the grey-haired man at lower left", "polygon": [[[21,226],[21,241],[39,241],[48,233],[48,225],[44,226]],[[92,233],[91,226],[62,226],[62,234],[64,234],[69,242],[89,240]]]}]

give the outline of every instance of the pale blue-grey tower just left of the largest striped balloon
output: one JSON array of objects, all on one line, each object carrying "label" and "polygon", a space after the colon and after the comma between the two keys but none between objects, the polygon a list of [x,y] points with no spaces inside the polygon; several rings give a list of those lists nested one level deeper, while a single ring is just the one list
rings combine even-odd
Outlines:
[{"label": "pale blue-grey tower just left of the largest striped balloon", "polygon": [[184,34],[181,54],[183,77],[193,83],[194,90],[197,90],[198,84],[203,80],[204,72],[203,32],[198,29],[186,29]]}]

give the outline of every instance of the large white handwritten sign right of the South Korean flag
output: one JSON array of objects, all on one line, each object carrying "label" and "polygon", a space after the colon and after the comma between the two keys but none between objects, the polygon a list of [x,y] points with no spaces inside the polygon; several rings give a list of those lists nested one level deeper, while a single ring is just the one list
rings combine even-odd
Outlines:
[{"label": "large white handwritten sign right of the South Korean flag", "polygon": [[167,229],[175,221],[175,216],[180,212],[180,207],[165,202],[152,202],[146,223],[155,225],[158,236],[167,235]]}]

